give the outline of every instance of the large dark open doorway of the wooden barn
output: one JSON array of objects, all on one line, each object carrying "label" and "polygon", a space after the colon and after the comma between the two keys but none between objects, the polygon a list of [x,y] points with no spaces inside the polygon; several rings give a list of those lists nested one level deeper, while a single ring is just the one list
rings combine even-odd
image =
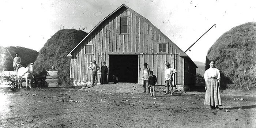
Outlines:
[{"label": "large dark open doorway of the wooden barn", "polygon": [[118,82],[138,83],[138,55],[110,55],[109,82],[113,75]]}]

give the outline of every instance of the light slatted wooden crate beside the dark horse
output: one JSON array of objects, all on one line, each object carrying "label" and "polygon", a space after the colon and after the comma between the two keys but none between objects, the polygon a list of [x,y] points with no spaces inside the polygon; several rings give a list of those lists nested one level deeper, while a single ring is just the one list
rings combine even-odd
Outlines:
[{"label": "light slatted wooden crate beside the dark horse", "polygon": [[48,87],[59,87],[58,86],[58,71],[47,71],[46,82]]}]

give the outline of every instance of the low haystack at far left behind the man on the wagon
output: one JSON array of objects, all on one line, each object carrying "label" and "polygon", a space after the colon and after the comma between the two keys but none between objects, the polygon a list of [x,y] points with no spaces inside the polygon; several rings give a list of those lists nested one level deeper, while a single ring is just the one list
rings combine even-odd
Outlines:
[{"label": "low haystack at far left behind the man on the wagon", "polygon": [[[9,50],[10,53],[8,52],[7,49]],[[19,56],[21,57],[22,61],[21,64],[24,67],[27,67],[27,65],[30,63],[34,63],[38,56],[37,51],[19,46],[0,46],[0,53],[0,71],[14,71],[14,68],[12,67],[12,57],[15,57],[15,53],[19,53]]]}]

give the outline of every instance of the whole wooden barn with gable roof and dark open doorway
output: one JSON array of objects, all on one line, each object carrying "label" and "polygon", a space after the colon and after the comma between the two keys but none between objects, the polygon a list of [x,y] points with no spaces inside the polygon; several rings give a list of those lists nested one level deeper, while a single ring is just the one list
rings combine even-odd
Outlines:
[{"label": "whole wooden barn with gable roof and dark open doorway", "polygon": [[[173,85],[187,90],[196,82],[196,64],[165,34],[142,15],[125,4],[101,20],[90,33],[67,54],[71,57],[71,82],[92,81],[92,60],[103,62],[109,68],[108,79],[113,75],[118,82],[143,83],[143,64],[158,78],[157,85],[165,85],[166,62],[177,70]],[[98,82],[100,71],[98,71]]]}]

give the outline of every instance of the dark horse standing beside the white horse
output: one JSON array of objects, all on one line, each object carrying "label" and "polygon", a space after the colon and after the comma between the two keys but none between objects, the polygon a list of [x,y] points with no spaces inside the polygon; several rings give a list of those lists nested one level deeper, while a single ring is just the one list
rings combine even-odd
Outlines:
[{"label": "dark horse standing beside the white horse", "polygon": [[40,88],[44,87],[46,75],[48,72],[43,67],[35,68],[35,74],[33,75],[35,86],[38,88],[38,81],[40,80]]}]

